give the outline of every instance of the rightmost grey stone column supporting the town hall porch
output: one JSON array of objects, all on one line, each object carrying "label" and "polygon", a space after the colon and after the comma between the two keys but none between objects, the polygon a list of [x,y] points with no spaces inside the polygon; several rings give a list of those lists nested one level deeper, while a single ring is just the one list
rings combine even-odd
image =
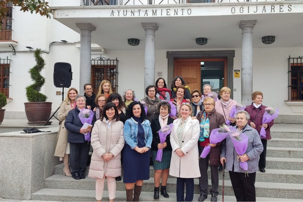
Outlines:
[{"label": "rightmost grey stone column supporting the town hall porch", "polygon": [[246,105],[251,104],[252,94],[252,29],[257,20],[241,20],[242,29],[242,58],[241,58],[241,99]]}]

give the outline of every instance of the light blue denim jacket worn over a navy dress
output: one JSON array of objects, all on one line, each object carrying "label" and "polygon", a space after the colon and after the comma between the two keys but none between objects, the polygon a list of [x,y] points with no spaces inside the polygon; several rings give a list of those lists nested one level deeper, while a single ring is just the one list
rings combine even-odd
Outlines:
[{"label": "light blue denim jacket worn over a navy dress", "polygon": [[[151,124],[149,120],[144,120],[141,123],[144,129],[144,142],[145,146],[151,148],[152,142],[152,133],[151,133]],[[125,143],[128,144],[132,149],[134,149],[138,145],[138,122],[136,122],[133,118],[130,118],[125,121],[124,124],[124,140]]]}]

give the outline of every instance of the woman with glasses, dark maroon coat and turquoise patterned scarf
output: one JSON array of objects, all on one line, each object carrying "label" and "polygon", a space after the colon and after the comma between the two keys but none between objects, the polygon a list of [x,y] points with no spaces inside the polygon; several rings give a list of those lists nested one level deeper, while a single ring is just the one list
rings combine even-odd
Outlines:
[{"label": "woman with glasses, dark maroon coat and turquoise patterned scarf", "polygon": [[199,155],[201,155],[206,145],[211,146],[210,153],[206,158],[200,158],[199,167],[201,177],[199,177],[200,186],[200,197],[198,201],[204,201],[207,199],[207,188],[208,188],[208,162],[211,169],[211,201],[217,201],[218,187],[219,187],[219,172],[218,166],[220,165],[220,154],[222,149],[222,142],[217,144],[210,144],[209,137],[211,131],[218,128],[220,125],[225,123],[224,116],[215,110],[215,100],[211,97],[206,97],[203,100],[204,111],[198,113],[197,119],[200,123],[200,137],[198,141]]}]

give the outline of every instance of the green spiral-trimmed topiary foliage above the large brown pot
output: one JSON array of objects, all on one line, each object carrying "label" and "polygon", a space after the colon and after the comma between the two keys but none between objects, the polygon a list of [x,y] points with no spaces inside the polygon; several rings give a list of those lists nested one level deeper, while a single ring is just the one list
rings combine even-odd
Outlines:
[{"label": "green spiral-trimmed topiary foliage above the large brown pot", "polygon": [[45,61],[41,57],[41,49],[36,49],[34,52],[36,65],[29,69],[29,74],[31,75],[32,81],[34,82],[32,85],[27,86],[26,89],[26,97],[28,102],[45,102],[47,96],[40,93],[41,87],[45,83],[45,78],[40,74],[42,69],[44,69]]}]

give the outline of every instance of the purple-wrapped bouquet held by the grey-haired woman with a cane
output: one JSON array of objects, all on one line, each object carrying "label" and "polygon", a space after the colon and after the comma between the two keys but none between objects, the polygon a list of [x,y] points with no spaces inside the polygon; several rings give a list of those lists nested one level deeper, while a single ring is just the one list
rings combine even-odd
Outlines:
[{"label": "purple-wrapped bouquet held by the grey-haired woman with a cane", "polygon": [[[245,135],[244,133],[241,133],[239,130],[235,130],[233,133],[230,135],[232,144],[235,147],[235,151],[238,154],[238,160],[239,156],[242,156],[245,154],[248,146],[248,136]],[[245,162],[240,162],[240,167],[247,171],[248,170],[248,163]]]}]

